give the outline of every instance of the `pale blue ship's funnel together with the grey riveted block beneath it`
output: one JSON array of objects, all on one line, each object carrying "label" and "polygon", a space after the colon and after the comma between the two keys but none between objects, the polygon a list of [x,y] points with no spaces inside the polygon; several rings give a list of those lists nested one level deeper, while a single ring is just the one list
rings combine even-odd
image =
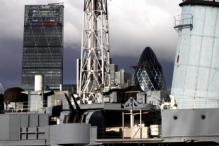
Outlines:
[{"label": "pale blue ship's funnel together with the grey riveted block beneath it", "polygon": [[165,142],[218,143],[219,2],[184,0],[180,6],[171,89],[178,109],[162,112],[162,137]]}]

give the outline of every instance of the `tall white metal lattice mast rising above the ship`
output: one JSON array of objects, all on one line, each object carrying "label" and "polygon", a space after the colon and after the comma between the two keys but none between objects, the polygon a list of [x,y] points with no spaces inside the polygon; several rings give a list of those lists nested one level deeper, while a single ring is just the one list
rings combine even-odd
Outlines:
[{"label": "tall white metal lattice mast rising above the ship", "polygon": [[107,0],[84,0],[79,94],[83,98],[109,86]]}]

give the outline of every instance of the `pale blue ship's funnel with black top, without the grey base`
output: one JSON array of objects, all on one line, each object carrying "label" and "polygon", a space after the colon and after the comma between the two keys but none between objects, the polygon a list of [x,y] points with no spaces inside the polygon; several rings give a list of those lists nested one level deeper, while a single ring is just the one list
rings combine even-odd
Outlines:
[{"label": "pale blue ship's funnel with black top, without the grey base", "polygon": [[171,94],[178,108],[219,107],[219,2],[185,0]]}]

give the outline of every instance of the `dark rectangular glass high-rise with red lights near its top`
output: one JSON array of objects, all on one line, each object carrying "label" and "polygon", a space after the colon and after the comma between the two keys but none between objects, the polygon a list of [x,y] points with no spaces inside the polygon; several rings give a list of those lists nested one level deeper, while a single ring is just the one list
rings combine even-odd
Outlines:
[{"label": "dark rectangular glass high-rise with red lights near its top", "polygon": [[63,81],[63,5],[26,5],[22,87],[33,90],[34,76],[44,75],[46,89]]}]

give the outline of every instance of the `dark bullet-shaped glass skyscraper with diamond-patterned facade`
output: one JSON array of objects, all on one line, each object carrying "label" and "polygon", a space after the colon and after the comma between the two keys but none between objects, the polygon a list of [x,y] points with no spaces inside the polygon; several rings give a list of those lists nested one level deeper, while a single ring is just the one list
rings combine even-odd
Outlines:
[{"label": "dark bullet-shaped glass skyscraper with diamond-patterned facade", "polygon": [[162,67],[150,47],[142,52],[135,67],[134,79],[143,91],[166,90]]}]

